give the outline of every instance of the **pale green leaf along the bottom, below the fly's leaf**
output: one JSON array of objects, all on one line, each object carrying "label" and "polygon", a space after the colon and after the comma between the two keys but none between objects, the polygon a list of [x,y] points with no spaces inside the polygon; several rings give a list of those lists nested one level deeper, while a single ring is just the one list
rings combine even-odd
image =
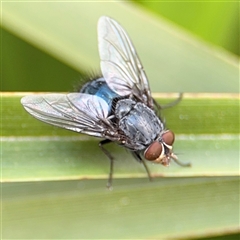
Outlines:
[{"label": "pale green leaf along the bottom, below the fly's leaf", "polygon": [[[6,183],[3,239],[193,239],[239,231],[239,179]],[[237,238],[236,238],[237,239]]]}]

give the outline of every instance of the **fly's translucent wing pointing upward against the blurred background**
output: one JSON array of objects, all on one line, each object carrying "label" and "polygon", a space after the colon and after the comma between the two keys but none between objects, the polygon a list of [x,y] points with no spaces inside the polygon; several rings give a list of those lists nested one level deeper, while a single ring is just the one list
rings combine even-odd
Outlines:
[{"label": "fly's translucent wing pointing upward against the blurred background", "polygon": [[153,108],[153,99],[143,66],[124,29],[113,19],[98,21],[101,71],[108,86],[120,96],[134,95]]}]

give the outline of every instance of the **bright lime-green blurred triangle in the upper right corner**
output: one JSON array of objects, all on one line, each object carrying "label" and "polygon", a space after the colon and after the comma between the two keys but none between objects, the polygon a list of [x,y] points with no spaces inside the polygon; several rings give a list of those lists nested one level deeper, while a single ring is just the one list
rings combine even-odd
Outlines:
[{"label": "bright lime-green blurred triangle in the upper right corner", "polygon": [[239,55],[238,1],[135,1],[200,39]]}]

